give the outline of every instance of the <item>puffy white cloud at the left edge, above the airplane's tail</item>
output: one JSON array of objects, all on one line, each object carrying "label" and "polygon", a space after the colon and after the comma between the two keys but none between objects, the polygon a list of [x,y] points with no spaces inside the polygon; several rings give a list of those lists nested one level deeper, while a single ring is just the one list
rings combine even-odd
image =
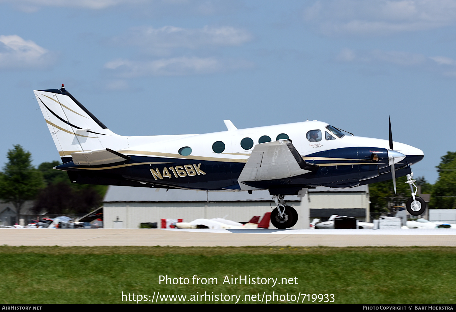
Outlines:
[{"label": "puffy white cloud at the left edge, above the airplane's tail", "polygon": [[0,68],[37,69],[51,65],[52,52],[20,36],[0,36]]}]

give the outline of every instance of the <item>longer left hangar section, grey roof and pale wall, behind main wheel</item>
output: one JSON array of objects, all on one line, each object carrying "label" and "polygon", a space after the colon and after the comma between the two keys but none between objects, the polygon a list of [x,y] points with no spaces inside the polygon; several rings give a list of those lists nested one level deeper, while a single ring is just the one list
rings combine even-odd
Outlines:
[{"label": "longer left hangar section, grey roof and pale wall, behind main wheel", "polygon": [[[137,229],[142,222],[156,222],[162,218],[182,218],[190,222],[197,218],[223,218],[247,222],[254,215],[261,218],[270,212],[271,196],[268,191],[204,192],[191,190],[158,189],[146,187],[110,186],[104,198],[103,223],[107,229]],[[209,202],[207,202],[209,199]],[[299,214],[294,228],[308,228],[307,196],[287,196],[287,204]],[[303,203],[301,205],[301,203]],[[272,225],[271,225],[272,227]]]}]

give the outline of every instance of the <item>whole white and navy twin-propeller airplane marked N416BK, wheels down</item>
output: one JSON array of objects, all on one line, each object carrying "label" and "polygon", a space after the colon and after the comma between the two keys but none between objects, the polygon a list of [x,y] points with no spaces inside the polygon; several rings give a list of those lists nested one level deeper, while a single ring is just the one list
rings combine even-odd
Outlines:
[{"label": "whole white and navy twin-propeller airplane marked N416BK, wheels down", "polygon": [[66,171],[73,183],[249,193],[267,189],[276,206],[271,223],[286,229],[296,224],[298,214],[286,205],[285,195],[389,179],[395,190],[395,177],[407,176],[408,212],[425,211],[410,168],[423,159],[423,151],[393,142],[391,123],[389,140],[345,135],[316,120],[249,129],[224,120],[228,130],[222,132],[122,136],[63,84],[34,92],[62,158],[55,169]]}]

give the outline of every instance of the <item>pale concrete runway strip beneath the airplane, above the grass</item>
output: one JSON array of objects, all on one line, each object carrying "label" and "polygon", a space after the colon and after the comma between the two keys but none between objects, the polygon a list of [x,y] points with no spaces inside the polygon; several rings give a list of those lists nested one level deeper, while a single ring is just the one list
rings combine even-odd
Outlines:
[{"label": "pale concrete runway strip beneath the airplane, above the grass", "polygon": [[0,229],[10,246],[456,246],[456,229]]}]

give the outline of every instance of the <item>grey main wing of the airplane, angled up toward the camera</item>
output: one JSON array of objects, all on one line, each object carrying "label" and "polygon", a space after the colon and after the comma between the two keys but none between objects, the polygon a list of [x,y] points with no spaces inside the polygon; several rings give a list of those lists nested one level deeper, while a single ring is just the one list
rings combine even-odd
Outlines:
[{"label": "grey main wing of the airplane, angled up toward the camera", "polygon": [[318,168],[302,159],[290,140],[257,144],[238,177],[242,190],[256,189],[242,183],[299,176]]}]

